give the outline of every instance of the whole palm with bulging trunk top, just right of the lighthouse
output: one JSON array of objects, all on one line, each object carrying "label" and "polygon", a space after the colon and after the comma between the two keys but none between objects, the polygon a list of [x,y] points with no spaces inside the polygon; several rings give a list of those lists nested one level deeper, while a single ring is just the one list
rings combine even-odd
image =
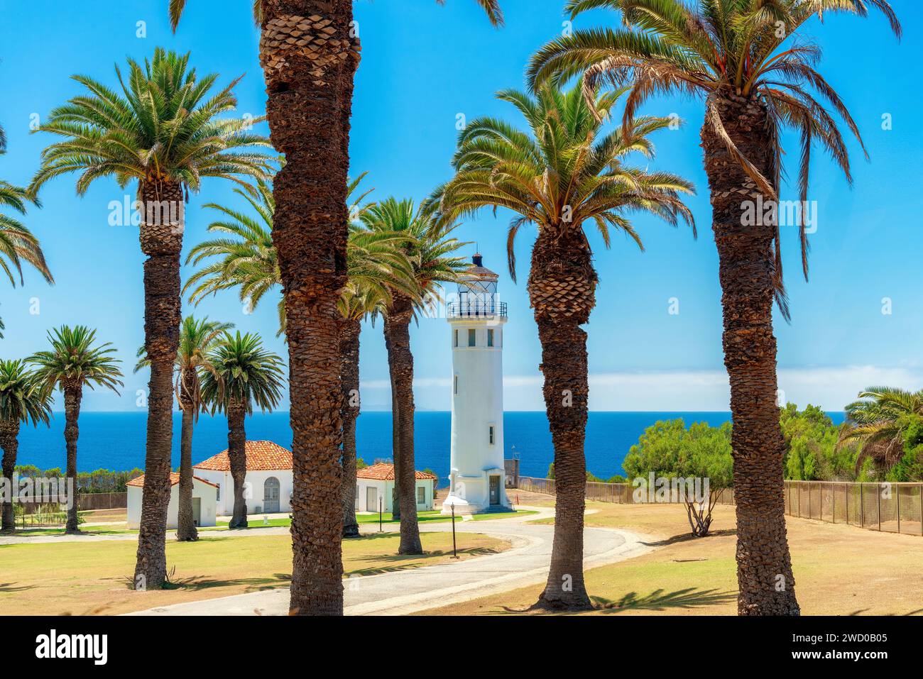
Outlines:
[{"label": "whole palm with bulging trunk top, just right of the lighthouse", "polygon": [[[612,111],[623,89],[593,96],[596,110]],[[538,232],[532,249],[528,292],[542,342],[545,408],[555,447],[555,537],[545,592],[553,607],[590,605],[583,585],[583,510],[587,421],[586,332],[595,305],[596,272],[584,227],[593,224],[609,245],[623,232],[641,249],[628,219],[646,211],[672,225],[692,224],[680,194],[692,185],[671,173],[648,172],[626,163],[639,152],[653,157],[647,138],[665,118],[643,117],[604,134],[602,120],[578,86],[552,86],[536,96],[515,90],[497,94],[525,117],[528,130],[494,118],[479,118],[462,131],[453,165],[455,177],[436,194],[438,208],[454,219],[485,207],[509,208],[509,273],[516,280],[513,244],[521,227]],[[694,232],[694,226],[693,226]]]}]

